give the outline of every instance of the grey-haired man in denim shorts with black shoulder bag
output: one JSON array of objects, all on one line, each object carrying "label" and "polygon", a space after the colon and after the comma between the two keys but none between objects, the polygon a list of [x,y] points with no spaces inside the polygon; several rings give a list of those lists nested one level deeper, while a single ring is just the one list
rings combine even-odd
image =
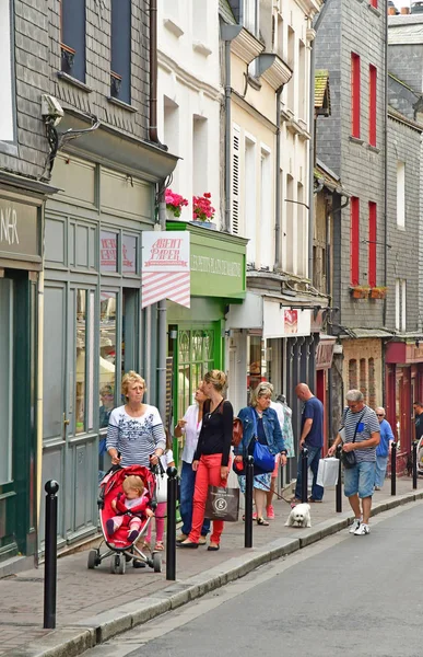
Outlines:
[{"label": "grey-haired man in denim shorts with black shoulder bag", "polygon": [[[380,427],[376,413],[365,405],[360,390],[346,393],[346,404],[343,413],[344,442],[343,451],[354,451],[356,464],[344,469],[344,494],[354,511],[354,522],[350,533],[362,537],[371,532],[368,519],[372,510],[372,495],[376,474],[376,447],[380,441]],[[342,437],[338,434],[328,456],[333,456]],[[360,505],[360,499],[362,505]],[[362,506],[362,509],[361,509]]]}]

